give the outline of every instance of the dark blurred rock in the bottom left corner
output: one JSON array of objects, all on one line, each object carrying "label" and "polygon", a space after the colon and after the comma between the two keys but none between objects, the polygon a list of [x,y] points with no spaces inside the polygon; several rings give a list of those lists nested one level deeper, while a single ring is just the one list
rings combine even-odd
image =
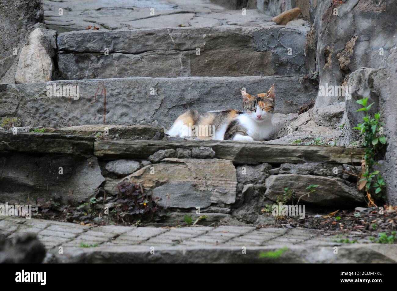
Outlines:
[{"label": "dark blurred rock in the bottom left corner", "polygon": [[0,235],[0,264],[41,264],[45,255],[35,234],[17,235],[14,242]]}]

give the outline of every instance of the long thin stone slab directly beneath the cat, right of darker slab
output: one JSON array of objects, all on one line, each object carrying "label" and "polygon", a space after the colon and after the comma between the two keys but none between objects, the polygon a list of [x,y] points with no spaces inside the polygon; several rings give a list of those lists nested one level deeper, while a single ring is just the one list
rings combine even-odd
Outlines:
[{"label": "long thin stone slab directly beneath the cat, right of darker slab", "polygon": [[259,163],[360,163],[364,150],[348,147],[267,145],[262,142],[232,141],[98,141],[94,143],[94,155],[101,159],[147,159],[160,149],[198,146],[211,147],[218,159],[239,164]]}]

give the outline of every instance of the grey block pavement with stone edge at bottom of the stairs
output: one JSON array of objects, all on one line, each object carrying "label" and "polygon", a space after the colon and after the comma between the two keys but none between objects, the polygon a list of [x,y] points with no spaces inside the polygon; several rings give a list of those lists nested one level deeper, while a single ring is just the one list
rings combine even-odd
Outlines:
[{"label": "grey block pavement with stone edge at bottom of the stairs", "polygon": [[397,262],[396,245],[370,244],[357,233],[349,239],[357,235],[358,243],[337,243],[334,234],[308,229],[94,227],[0,217],[0,233],[36,233],[46,262]]}]

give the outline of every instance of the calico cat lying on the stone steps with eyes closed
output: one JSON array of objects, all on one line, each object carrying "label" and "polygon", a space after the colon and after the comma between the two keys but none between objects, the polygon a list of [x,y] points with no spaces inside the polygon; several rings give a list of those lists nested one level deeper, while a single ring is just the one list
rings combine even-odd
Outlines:
[{"label": "calico cat lying on the stone steps with eyes closed", "polygon": [[274,84],[267,93],[249,95],[241,91],[245,112],[235,109],[181,114],[167,134],[212,140],[267,140],[273,131]]}]

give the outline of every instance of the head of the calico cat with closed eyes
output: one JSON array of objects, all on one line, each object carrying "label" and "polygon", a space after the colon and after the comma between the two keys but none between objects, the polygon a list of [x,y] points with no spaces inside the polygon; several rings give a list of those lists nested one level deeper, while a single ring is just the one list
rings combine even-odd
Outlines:
[{"label": "head of the calico cat with closed eyes", "polygon": [[274,101],[276,95],[274,94],[274,84],[266,93],[259,93],[256,95],[249,95],[247,92],[241,90],[243,95],[243,105],[246,113],[256,122],[263,122],[273,114]]}]

